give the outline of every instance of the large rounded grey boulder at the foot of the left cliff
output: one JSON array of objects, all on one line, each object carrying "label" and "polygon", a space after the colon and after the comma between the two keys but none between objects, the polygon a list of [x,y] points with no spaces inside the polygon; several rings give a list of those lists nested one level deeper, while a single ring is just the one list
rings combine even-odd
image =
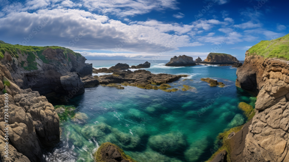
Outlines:
[{"label": "large rounded grey boulder at the foot of the left cliff", "polygon": [[84,83],[76,72],[60,77],[61,86],[66,94],[78,95],[84,93]]}]

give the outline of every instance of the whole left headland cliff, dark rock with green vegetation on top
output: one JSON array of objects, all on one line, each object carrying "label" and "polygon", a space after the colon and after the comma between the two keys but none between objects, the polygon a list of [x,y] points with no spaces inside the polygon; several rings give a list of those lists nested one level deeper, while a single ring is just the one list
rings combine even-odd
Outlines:
[{"label": "whole left headland cliff, dark rock with green vegetation on top", "polygon": [[[86,58],[64,47],[11,45],[1,41],[0,53],[0,62],[10,71],[15,84],[38,91],[40,95],[83,93],[80,77],[92,75],[92,65],[85,63]],[[77,73],[76,78],[73,72]],[[63,82],[62,76],[68,81],[77,80],[68,88],[72,91],[66,89],[68,82]]]}]

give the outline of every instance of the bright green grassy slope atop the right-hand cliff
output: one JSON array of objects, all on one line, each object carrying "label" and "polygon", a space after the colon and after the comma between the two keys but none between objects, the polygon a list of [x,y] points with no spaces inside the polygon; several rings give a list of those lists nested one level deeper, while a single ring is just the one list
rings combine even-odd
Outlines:
[{"label": "bright green grassy slope atop the right-hand cliff", "polygon": [[250,54],[257,54],[265,58],[276,57],[289,60],[289,34],[271,41],[261,41],[248,51]]}]

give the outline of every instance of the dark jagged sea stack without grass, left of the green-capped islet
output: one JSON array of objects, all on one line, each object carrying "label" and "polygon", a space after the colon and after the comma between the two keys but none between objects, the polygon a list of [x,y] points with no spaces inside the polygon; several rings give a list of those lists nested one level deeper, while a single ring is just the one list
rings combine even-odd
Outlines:
[{"label": "dark jagged sea stack without grass, left of the green-capped islet", "polygon": [[195,66],[197,65],[193,58],[190,56],[174,56],[171,58],[170,62],[166,63],[166,66]]}]

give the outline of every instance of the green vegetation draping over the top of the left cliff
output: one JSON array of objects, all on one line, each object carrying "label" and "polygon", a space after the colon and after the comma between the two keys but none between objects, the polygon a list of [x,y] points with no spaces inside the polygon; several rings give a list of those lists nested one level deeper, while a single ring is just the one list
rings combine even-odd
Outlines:
[{"label": "green vegetation draping over the top of the left cliff", "polygon": [[19,58],[19,54],[22,56],[27,56],[27,62],[28,66],[23,66],[24,61],[21,62],[21,67],[23,67],[26,70],[36,70],[37,63],[35,61],[35,58],[41,59],[44,63],[48,64],[49,60],[45,58],[44,55],[42,55],[42,52],[45,51],[45,49],[51,48],[51,49],[63,49],[63,54],[65,57],[70,61],[70,58],[67,57],[67,54],[71,53],[77,58],[81,56],[81,54],[76,53],[72,51],[71,49],[65,48],[65,47],[58,47],[58,46],[45,46],[45,47],[38,47],[38,46],[23,46],[23,45],[12,45],[9,43],[5,43],[3,41],[0,41],[0,60],[4,57],[5,52],[8,52],[12,57]]}]

